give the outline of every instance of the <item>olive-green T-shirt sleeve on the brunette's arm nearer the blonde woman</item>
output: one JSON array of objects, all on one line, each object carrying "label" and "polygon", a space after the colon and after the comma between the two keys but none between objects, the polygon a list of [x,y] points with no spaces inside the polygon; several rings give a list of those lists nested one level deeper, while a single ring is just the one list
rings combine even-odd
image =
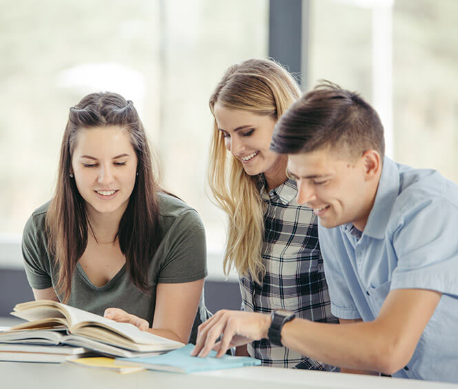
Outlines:
[{"label": "olive-green T-shirt sleeve on the brunette's arm nearer the blonde woman", "polygon": [[207,276],[205,229],[194,209],[181,213],[171,226],[165,255],[158,283],[192,282]]}]

